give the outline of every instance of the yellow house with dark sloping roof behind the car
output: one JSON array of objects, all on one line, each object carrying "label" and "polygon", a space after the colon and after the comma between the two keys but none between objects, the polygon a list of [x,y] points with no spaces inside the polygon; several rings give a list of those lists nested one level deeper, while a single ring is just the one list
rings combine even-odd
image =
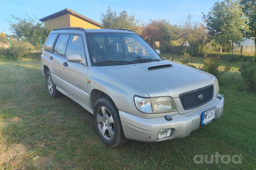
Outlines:
[{"label": "yellow house with dark sloping roof behind the car", "polygon": [[86,16],[81,15],[71,9],[63,9],[59,12],[53,13],[51,15],[45,16],[39,19],[39,21],[44,22],[45,27],[54,29],[60,27],[81,27],[86,29],[101,29],[103,26],[93,21]]}]

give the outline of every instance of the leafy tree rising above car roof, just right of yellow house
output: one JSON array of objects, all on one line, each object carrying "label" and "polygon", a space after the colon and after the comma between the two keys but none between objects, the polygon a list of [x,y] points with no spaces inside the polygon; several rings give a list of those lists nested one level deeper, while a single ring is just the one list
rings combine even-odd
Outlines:
[{"label": "leafy tree rising above car roof, just right of yellow house", "polygon": [[126,10],[119,14],[115,10],[107,9],[107,13],[101,13],[101,23],[105,28],[126,29],[131,31],[139,31],[138,27],[142,25],[139,19],[135,18],[135,14],[128,14]]}]

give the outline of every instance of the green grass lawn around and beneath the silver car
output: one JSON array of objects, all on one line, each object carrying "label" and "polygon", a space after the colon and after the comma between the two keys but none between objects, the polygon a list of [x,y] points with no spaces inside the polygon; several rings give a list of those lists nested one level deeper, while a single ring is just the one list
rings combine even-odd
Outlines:
[{"label": "green grass lawn around and beneath the silver car", "polygon": [[[229,64],[232,72],[219,80],[225,105],[218,121],[183,139],[130,140],[113,149],[97,136],[92,114],[66,96],[48,95],[39,57],[1,59],[0,169],[256,169],[256,94],[244,92],[236,63]],[[242,163],[193,161],[216,152],[241,155]]]}]

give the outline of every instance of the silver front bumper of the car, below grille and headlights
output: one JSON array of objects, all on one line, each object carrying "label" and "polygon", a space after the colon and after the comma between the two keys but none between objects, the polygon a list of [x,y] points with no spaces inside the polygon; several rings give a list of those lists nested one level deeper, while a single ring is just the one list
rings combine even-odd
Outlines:
[{"label": "silver front bumper of the car, below grille and headlights", "polygon": [[202,112],[216,107],[215,120],[217,120],[223,113],[223,105],[224,98],[216,98],[203,108],[185,114],[173,115],[171,121],[167,121],[164,117],[142,118],[123,111],[119,111],[119,115],[126,138],[156,142],[160,141],[157,136],[161,129],[172,129],[172,135],[167,139],[182,138],[190,135],[193,130],[200,127]]}]

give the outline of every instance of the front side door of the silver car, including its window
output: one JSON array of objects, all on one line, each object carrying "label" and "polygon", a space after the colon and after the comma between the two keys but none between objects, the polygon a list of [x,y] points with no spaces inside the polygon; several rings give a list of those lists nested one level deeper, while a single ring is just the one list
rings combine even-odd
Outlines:
[{"label": "front side door of the silver car, including its window", "polygon": [[65,58],[66,66],[64,66],[62,79],[67,84],[67,92],[88,105],[89,95],[87,91],[87,65],[85,62],[85,51],[83,37],[80,34],[71,34],[66,47],[66,57],[78,54],[83,58],[82,62],[69,62]]}]

